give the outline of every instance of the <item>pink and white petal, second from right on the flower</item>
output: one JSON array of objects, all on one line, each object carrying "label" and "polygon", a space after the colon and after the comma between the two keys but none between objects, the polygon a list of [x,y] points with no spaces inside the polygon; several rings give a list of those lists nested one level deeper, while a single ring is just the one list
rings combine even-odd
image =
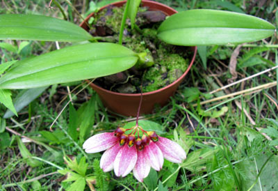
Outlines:
[{"label": "pink and white petal, second from right on the flower", "polygon": [[152,141],[144,148],[145,156],[149,161],[149,165],[156,171],[160,171],[163,166],[163,153],[161,149]]}]

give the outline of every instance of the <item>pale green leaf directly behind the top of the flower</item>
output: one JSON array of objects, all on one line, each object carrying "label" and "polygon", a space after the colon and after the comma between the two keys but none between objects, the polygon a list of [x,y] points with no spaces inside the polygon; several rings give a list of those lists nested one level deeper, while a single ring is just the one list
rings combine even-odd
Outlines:
[{"label": "pale green leaf directly behind the top of the flower", "polygon": [[[129,129],[136,125],[136,121],[131,121],[129,123],[126,123],[123,128]],[[142,127],[144,130],[147,131],[155,131],[157,135],[162,135],[165,132],[163,131],[163,126],[159,123],[156,123],[154,121],[148,121],[148,120],[139,120],[138,125]]]}]

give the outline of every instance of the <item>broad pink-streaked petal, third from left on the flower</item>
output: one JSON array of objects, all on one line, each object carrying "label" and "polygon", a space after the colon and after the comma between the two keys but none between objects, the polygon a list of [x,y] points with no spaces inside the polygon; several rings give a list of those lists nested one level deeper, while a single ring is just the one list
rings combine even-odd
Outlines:
[{"label": "broad pink-streaked petal, third from left on the flower", "polygon": [[135,167],[137,161],[136,146],[129,147],[125,144],[114,161],[114,171],[116,176],[126,176]]}]

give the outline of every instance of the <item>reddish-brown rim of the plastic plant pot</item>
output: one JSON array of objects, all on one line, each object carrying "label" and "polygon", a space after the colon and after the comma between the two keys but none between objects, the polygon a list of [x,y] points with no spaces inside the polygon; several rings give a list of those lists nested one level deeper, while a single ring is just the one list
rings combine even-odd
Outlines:
[{"label": "reddish-brown rim of the plastic plant pot", "polygon": [[[115,5],[118,5],[118,4],[122,4],[122,3],[125,3],[126,1],[117,1],[115,3],[110,3],[106,6],[103,6],[101,7],[99,10],[103,10],[104,8],[108,7],[108,6],[115,6]],[[142,3],[152,3],[152,4],[155,4],[155,5],[158,5],[158,6],[163,6],[164,8],[167,8],[167,9],[170,9],[171,11],[173,11],[174,13],[178,13],[177,10],[174,10],[173,8],[170,8],[169,6],[166,6],[164,5],[163,3],[158,3],[156,1],[149,1],[149,0],[142,0]],[[94,13],[91,13],[90,15],[88,15],[88,17],[85,18],[85,20],[83,22],[81,22],[81,24],[79,26],[83,26],[83,24],[85,24],[85,22],[94,15]],[[186,46],[188,47],[188,46]],[[138,97],[140,96],[141,94],[144,96],[144,95],[152,95],[152,94],[156,94],[156,93],[159,93],[161,91],[164,91],[165,89],[168,89],[170,86],[174,86],[175,84],[179,83],[181,80],[183,80],[183,78],[187,75],[187,73],[189,72],[191,66],[193,65],[193,62],[195,61],[195,57],[196,57],[196,54],[197,54],[197,47],[194,46],[194,47],[191,47],[191,49],[193,49],[193,57],[190,61],[190,64],[188,66],[188,68],[186,69],[185,72],[183,72],[183,75],[181,75],[181,77],[179,77],[178,79],[176,79],[174,82],[172,82],[171,84],[161,88],[161,89],[157,89],[156,91],[149,91],[149,92],[145,92],[145,93],[118,93],[118,92],[115,92],[115,91],[110,91],[110,90],[107,90],[107,89],[104,89],[102,88],[101,86],[98,86],[96,84],[94,84],[93,82],[90,83],[90,86],[93,86],[95,87],[96,89],[100,89],[101,91],[105,91],[106,93],[110,93],[110,94],[113,94],[113,95],[122,95],[122,96],[126,96],[126,97]],[[87,82],[90,82],[88,79],[86,80]]]}]

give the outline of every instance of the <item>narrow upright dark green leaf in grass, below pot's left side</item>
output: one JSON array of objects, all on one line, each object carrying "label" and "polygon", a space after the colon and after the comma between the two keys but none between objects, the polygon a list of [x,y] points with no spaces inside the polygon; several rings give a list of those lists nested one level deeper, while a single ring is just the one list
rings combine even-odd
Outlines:
[{"label": "narrow upright dark green leaf in grass, below pot's left side", "polygon": [[77,127],[78,127],[78,116],[77,112],[74,109],[74,106],[70,103],[70,121],[69,121],[69,135],[74,139],[75,141],[77,140],[78,137],[78,132],[77,132]]}]

